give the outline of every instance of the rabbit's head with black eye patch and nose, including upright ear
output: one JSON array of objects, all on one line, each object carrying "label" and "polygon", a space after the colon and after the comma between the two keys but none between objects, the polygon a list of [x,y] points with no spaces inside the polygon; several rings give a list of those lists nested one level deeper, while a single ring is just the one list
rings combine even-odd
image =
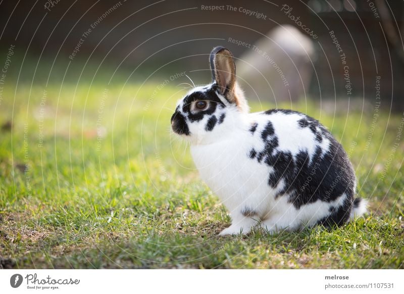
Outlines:
[{"label": "rabbit's head with black eye patch and nose, including upright ear", "polygon": [[191,143],[217,141],[236,128],[239,115],[248,112],[248,105],[236,83],[233,55],[224,47],[215,47],[210,54],[212,83],[190,90],[178,101],[171,117],[175,133]]}]

